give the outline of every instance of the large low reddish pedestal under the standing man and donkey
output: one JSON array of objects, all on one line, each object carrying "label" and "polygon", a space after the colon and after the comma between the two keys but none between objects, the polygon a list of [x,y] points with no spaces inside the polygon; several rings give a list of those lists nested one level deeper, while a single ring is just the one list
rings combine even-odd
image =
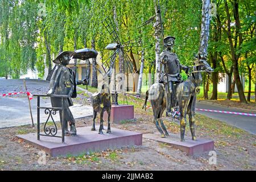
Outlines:
[{"label": "large low reddish pedestal under the standing man and donkey", "polygon": [[[79,155],[86,152],[142,145],[141,133],[112,128],[112,133],[106,134],[104,130],[104,135],[101,135],[98,134],[98,128],[99,126],[96,126],[97,131],[91,131],[91,127],[78,127],[77,137],[65,137],[65,143],[61,143],[61,138],[55,137],[40,136],[40,140],[37,140],[36,133],[16,136],[51,156]],[[58,130],[58,134],[60,133],[61,131]]]}]

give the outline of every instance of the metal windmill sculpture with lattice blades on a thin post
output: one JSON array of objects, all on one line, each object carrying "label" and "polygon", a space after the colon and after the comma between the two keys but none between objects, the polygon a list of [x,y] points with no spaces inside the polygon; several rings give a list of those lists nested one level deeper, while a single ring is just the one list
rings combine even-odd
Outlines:
[{"label": "metal windmill sculpture with lattice blades on a thin post", "polygon": [[[116,91],[116,82],[115,82],[115,60],[117,58],[117,55],[119,55],[119,52],[122,52],[123,59],[124,59],[124,67],[127,73],[135,73],[135,63],[130,59],[130,57],[127,55],[125,48],[128,47],[141,47],[141,40],[140,39],[133,39],[129,40],[123,44],[121,44],[121,41],[118,37],[117,33],[117,27],[112,22],[112,20],[109,18],[109,16],[106,16],[104,20],[102,20],[102,24],[106,28],[106,30],[109,32],[110,36],[112,36],[114,43],[108,44],[105,49],[109,49],[114,51],[111,56],[108,57],[105,61],[102,61],[102,68],[104,69],[104,72],[107,73],[111,67],[114,67],[114,90],[112,92],[112,104],[118,105],[118,93]],[[128,79],[128,76],[127,76]]]}]

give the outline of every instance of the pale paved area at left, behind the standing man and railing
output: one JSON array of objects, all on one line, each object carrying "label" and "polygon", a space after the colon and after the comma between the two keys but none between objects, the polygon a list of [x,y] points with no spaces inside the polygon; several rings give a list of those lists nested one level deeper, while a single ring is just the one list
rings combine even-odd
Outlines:
[{"label": "pale paved area at left, behind the standing man and railing", "polygon": [[[26,85],[28,90],[34,94],[47,93],[49,82],[44,80],[26,80]],[[23,80],[0,80],[0,93],[13,92],[13,89],[16,89],[16,91],[22,89],[22,91],[24,91]],[[40,105],[44,107],[51,107],[51,101],[49,98],[42,98]],[[31,107],[32,117],[34,119],[34,123],[36,123],[36,98],[31,100]],[[75,118],[93,115],[92,106],[75,104],[70,107],[70,109]],[[40,110],[40,113],[41,122],[45,122],[47,115],[44,114],[43,109]],[[59,121],[59,114],[57,113],[53,116],[53,119],[55,119],[55,121]],[[0,128],[29,125],[31,123],[30,110],[26,95],[23,97],[0,97]]]}]

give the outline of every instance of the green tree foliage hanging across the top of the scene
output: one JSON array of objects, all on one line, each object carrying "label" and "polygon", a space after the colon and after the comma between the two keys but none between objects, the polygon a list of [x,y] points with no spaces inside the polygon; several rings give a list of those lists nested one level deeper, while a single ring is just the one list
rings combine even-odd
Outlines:
[{"label": "green tree foliage hanging across the top of the scene", "polygon": [[[212,1],[217,4],[217,15],[226,26],[226,13],[224,2]],[[39,16],[39,3],[46,5],[46,16]],[[76,48],[90,47],[93,39],[97,51],[106,59],[112,51],[105,50],[106,45],[113,40],[101,23],[109,16],[113,19],[114,7],[117,10],[118,35],[121,43],[131,39],[141,39],[145,52],[144,73],[155,62],[154,18],[151,23],[142,24],[155,15],[154,1],[152,0],[0,0],[0,76],[19,78],[28,69],[37,69],[39,77],[43,78],[44,68],[51,63],[46,59],[47,49],[51,59],[60,51]],[[201,0],[160,0],[164,36],[175,36],[175,52],[184,65],[192,65],[193,53],[199,49],[201,28]],[[232,3],[228,2],[231,16]],[[241,32],[243,44],[236,51],[241,53],[240,69],[246,72],[246,64],[255,63],[255,14],[253,1],[239,2]],[[210,37],[217,26],[217,19],[213,17],[210,22]],[[232,39],[236,40],[235,26],[232,26]],[[222,28],[223,29],[223,28]],[[140,53],[141,47],[134,47],[133,53]],[[208,52],[221,53],[225,58],[227,68],[232,65],[228,36],[221,32],[221,39],[215,42],[209,40]],[[217,58],[221,63],[220,57]],[[137,68],[139,69],[139,68]],[[222,64],[216,71],[223,72]],[[185,73],[182,74],[185,80]]]}]

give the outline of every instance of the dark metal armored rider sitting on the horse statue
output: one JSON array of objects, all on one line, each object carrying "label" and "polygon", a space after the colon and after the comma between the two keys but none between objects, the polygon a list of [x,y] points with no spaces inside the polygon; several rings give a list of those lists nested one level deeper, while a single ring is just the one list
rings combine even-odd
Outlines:
[{"label": "dark metal armored rider sitting on the horse statue", "polygon": [[[183,82],[181,79],[180,71],[183,69],[188,72],[188,67],[180,64],[180,61],[175,53],[172,52],[174,47],[173,36],[167,36],[164,38],[164,48],[165,50],[160,53],[160,63],[164,65],[165,74],[160,78],[160,83],[166,85],[167,90],[167,112],[168,116],[171,116],[172,106],[177,106],[177,101],[175,97],[174,84],[180,84]],[[167,77],[168,76],[168,77]]]}]

